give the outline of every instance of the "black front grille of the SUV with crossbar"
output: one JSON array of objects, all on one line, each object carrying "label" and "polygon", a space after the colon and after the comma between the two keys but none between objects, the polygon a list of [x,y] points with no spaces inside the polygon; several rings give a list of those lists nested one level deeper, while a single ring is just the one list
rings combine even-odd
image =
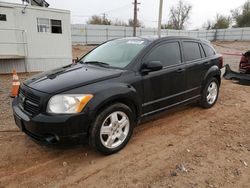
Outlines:
[{"label": "black front grille of the SUV with crossbar", "polygon": [[19,91],[19,103],[20,107],[32,116],[40,111],[40,97],[23,88]]}]

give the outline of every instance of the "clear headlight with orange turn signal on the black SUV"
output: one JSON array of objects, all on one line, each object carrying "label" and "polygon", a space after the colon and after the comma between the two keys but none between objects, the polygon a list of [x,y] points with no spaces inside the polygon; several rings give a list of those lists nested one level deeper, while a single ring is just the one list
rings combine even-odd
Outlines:
[{"label": "clear headlight with orange turn signal on the black SUV", "polygon": [[79,113],[93,98],[93,95],[67,94],[51,97],[47,105],[48,113],[74,114]]}]

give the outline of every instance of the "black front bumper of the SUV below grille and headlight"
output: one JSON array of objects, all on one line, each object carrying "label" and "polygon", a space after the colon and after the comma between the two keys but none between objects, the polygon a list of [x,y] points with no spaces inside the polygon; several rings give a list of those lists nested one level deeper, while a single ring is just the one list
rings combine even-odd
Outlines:
[{"label": "black front bumper of the SUV below grille and headlight", "polygon": [[40,113],[29,117],[18,106],[18,99],[12,103],[16,125],[29,137],[39,142],[54,144],[70,138],[84,138],[91,124],[87,113],[51,115]]}]

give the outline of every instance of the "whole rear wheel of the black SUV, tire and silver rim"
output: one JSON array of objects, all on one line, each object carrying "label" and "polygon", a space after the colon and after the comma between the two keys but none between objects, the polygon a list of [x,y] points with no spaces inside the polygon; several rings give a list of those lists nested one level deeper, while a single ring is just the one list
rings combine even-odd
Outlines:
[{"label": "whole rear wheel of the black SUV, tire and silver rim", "polygon": [[218,96],[219,82],[214,77],[210,78],[202,90],[200,106],[203,108],[211,108],[216,103]]}]

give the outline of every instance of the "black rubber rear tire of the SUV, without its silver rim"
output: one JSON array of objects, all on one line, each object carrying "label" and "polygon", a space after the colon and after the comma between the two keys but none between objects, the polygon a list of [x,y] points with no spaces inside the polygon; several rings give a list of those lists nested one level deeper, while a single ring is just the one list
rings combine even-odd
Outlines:
[{"label": "black rubber rear tire of the SUV, without its silver rim", "polygon": [[[208,90],[209,85],[210,85],[212,82],[215,82],[216,85],[217,85],[217,96],[216,96],[216,99],[215,99],[214,103],[213,103],[213,104],[209,104],[208,101],[207,101],[207,90]],[[210,78],[210,79],[207,81],[207,83],[206,83],[204,89],[202,90],[202,94],[201,94],[202,96],[201,96],[200,105],[201,105],[203,108],[211,108],[212,106],[214,106],[215,103],[216,103],[217,100],[218,100],[218,97],[219,97],[219,90],[220,90],[220,87],[219,87],[219,82],[218,82],[218,80],[217,80],[216,78]]]}]

